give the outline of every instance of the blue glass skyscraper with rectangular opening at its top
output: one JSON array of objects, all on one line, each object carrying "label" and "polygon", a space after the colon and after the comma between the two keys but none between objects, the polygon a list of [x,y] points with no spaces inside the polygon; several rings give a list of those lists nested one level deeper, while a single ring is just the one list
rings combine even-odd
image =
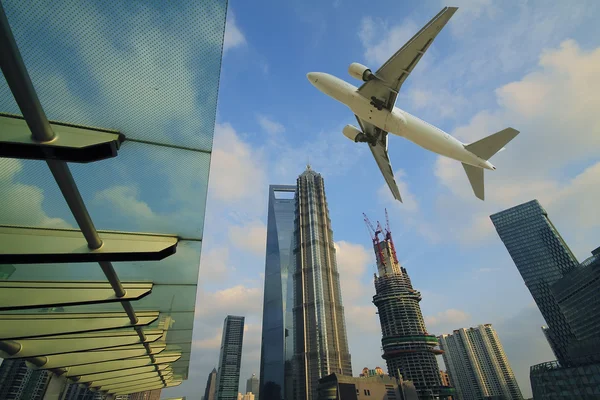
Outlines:
[{"label": "blue glass skyscraper with rectangular opening at its top", "polygon": [[[291,390],[293,357],[294,185],[269,186],[267,254],[260,352],[260,400],[280,400]],[[286,381],[288,382],[286,384]]]}]

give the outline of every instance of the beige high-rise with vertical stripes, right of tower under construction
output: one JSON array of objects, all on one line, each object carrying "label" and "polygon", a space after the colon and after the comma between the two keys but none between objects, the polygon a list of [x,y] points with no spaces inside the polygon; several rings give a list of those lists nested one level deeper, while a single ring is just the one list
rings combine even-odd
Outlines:
[{"label": "beige high-rise with vertical stripes, right of tower under construction", "polygon": [[460,399],[523,399],[491,324],[456,329],[439,340],[450,382]]}]

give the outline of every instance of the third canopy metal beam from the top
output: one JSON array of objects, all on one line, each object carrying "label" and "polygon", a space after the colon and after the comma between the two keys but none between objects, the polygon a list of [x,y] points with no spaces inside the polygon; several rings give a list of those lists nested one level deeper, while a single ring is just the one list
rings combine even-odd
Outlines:
[{"label": "third canopy metal beam from the top", "polygon": [[117,297],[106,282],[0,281],[0,311],[138,300],[152,291],[152,283],[123,283],[123,288]]}]

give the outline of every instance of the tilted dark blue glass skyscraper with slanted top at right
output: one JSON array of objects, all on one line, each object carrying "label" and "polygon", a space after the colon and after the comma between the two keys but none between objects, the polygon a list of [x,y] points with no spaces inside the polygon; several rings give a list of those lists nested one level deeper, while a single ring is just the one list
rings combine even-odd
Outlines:
[{"label": "tilted dark blue glass skyscraper with slanted top at right", "polygon": [[577,268],[577,259],[537,200],[490,218],[548,324],[545,334],[550,347],[562,365],[569,365],[567,347],[575,336],[551,287]]}]

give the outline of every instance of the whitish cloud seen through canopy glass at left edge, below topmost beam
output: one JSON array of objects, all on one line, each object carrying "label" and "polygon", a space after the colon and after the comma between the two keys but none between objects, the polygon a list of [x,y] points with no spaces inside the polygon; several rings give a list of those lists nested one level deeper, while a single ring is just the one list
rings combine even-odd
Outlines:
[{"label": "whitish cloud seen through canopy glass at left edge, below topmost beam", "polygon": [[72,228],[62,218],[50,217],[43,210],[44,191],[34,185],[16,182],[23,163],[0,158],[0,220],[7,225],[29,225],[42,228]]}]

